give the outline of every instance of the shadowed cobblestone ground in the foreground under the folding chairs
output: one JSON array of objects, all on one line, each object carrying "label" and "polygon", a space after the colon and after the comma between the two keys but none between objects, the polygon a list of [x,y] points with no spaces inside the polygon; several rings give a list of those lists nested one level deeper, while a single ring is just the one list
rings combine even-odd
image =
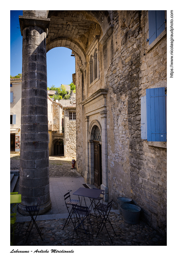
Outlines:
[{"label": "shadowed cobblestone ground in the foreground under the folding chairs", "polygon": [[[91,219],[93,221],[93,219]],[[108,234],[103,228],[102,232],[98,235],[97,229],[94,228],[94,235],[90,237],[90,241],[87,239],[86,245],[129,245],[129,246],[152,246],[152,245],[166,245],[166,239],[159,235],[156,231],[146,225],[144,222],[139,222],[139,224],[131,225],[123,221],[122,215],[110,213],[110,221],[116,232],[114,236],[113,230],[108,223],[107,229],[110,234],[110,237],[113,237],[113,243],[111,243]],[[46,221],[37,221],[39,229],[42,233],[42,239],[40,238],[36,228],[33,226],[33,229],[30,233],[30,236],[26,241],[26,226],[29,222],[18,222],[16,227],[16,235],[14,245],[53,245],[53,246],[62,246],[68,245],[71,246],[72,237],[73,237],[73,224],[70,222],[64,230],[63,225],[65,219],[55,219],[55,220],[46,220]],[[91,230],[91,229],[90,229]],[[84,235],[82,235],[84,237]],[[77,238],[74,233],[73,245],[85,245],[84,238]]]}]

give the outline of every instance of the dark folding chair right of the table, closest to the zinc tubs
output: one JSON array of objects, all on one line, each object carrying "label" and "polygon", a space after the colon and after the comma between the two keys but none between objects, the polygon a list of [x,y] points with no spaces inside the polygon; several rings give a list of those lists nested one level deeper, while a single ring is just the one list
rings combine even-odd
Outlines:
[{"label": "dark folding chair right of the table, closest to the zinc tubs", "polygon": [[[110,219],[109,219],[109,213],[110,213],[110,209],[112,207],[112,201],[113,199],[106,205],[106,204],[99,204],[95,207],[95,209],[99,212],[99,215],[100,215],[100,223],[98,224],[98,233],[96,235],[96,237],[98,236],[98,234],[103,230],[103,227],[105,227],[109,237],[110,237],[110,234],[106,228],[106,222],[108,221],[113,229],[113,226],[110,222]],[[114,229],[113,229],[114,231]],[[117,237],[115,231],[114,231],[114,236]],[[113,236],[113,237],[114,237]],[[112,239],[113,239],[112,237]],[[112,239],[110,237],[110,240],[111,240],[111,243],[112,243]]]}]

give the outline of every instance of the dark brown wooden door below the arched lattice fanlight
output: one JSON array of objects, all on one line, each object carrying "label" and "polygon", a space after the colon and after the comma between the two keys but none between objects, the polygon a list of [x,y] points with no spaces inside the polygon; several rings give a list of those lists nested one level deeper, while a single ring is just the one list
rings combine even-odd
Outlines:
[{"label": "dark brown wooden door below the arched lattice fanlight", "polygon": [[100,189],[102,184],[102,159],[101,145],[99,141],[94,141],[94,185]]}]

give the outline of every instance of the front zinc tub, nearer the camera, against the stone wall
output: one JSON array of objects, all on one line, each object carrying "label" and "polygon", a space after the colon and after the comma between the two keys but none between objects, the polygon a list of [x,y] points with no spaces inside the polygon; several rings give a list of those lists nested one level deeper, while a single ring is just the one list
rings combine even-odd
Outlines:
[{"label": "front zinc tub, nearer the camera, against the stone wall", "polygon": [[138,224],[141,208],[133,204],[122,204],[120,206],[122,210],[123,221],[128,224]]}]

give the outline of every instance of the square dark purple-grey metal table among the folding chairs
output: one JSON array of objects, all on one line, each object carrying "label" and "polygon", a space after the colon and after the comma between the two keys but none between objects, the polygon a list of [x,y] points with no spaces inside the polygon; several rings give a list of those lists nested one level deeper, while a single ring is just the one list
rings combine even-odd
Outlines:
[{"label": "square dark purple-grey metal table among the folding chairs", "polygon": [[[81,196],[84,198],[84,201],[85,201],[85,197],[88,197],[90,198],[90,206],[91,206],[91,209],[93,207],[93,201],[94,199],[98,198],[99,195],[101,194],[101,192],[103,192],[104,190],[102,189],[90,189],[90,188],[78,188],[74,193],[73,195],[77,195],[77,196]],[[79,199],[80,200],[80,199]],[[82,199],[81,199],[81,204],[82,204]],[[85,201],[85,205],[86,205],[86,201]],[[87,206],[87,205],[86,205]],[[88,207],[88,209],[90,208],[90,206]]]}]

